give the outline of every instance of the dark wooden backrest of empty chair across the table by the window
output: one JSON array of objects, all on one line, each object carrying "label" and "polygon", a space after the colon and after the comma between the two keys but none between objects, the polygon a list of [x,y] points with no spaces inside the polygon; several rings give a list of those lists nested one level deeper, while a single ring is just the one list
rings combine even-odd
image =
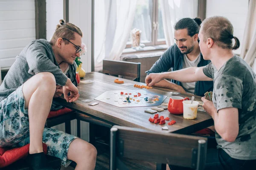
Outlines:
[{"label": "dark wooden backrest of empty chair across the table by the window", "polygon": [[134,81],[140,82],[140,62],[104,59],[102,72],[111,75],[134,77]]}]

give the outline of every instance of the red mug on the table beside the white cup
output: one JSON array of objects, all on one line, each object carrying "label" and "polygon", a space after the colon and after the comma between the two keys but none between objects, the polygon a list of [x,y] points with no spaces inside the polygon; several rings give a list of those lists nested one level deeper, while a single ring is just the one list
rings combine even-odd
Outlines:
[{"label": "red mug on the table beside the white cup", "polygon": [[168,111],[172,114],[183,114],[183,101],[189,100],[188,97],[172,96],[168,103]]}]

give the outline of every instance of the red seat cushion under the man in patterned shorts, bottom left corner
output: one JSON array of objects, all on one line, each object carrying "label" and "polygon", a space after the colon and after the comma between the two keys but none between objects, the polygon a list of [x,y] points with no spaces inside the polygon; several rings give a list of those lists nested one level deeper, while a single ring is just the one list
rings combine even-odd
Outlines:
[{"label": "red seat cushion under the man in patterned shorts, bottom left corner", "polygon": [[[44,154],[47,153],[47,145],[43,143]],[[13,149],[0,147],[0,168],[6,167],[13,162],[25,158],[29,154],[29,144]]]}]

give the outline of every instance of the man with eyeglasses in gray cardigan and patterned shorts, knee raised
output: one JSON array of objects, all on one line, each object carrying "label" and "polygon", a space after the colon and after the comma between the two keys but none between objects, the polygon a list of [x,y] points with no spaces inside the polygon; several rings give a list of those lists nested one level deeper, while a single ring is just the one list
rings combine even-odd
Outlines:
[{"label": "man with eyeglasses in gray cardigan and patterned shorts, knee raised", "polygon": [[52,170],[43,153],[71,160],[77,170],[93,170],[96,148],[76,136],[44,128],[49,111],[58,108],[52,98],[64,94],[67,102],[79,98],[76,88],[76,57],[80,57],[83,33],[60,20],[50,42],[34,40],[16,57],[0,86],[0,147],[29,145],[26,160],[31,170]]}]

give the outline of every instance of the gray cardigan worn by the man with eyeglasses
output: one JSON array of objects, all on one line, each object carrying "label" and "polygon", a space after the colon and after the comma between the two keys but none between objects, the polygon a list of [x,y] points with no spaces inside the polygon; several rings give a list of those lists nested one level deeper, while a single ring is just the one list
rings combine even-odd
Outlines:
[{"label": "gray cardigan worn by the man with eyeglasses", "polygon": [[[44,39],[32,41],[16,57],[0,86],[0,101],[40,72],[52,73],[58,85],[64,86],[67,82],[67,76],[55,60],[52,46]],[[70,65],[70,79],[74,85],[77,85],[76,62]]]}]

